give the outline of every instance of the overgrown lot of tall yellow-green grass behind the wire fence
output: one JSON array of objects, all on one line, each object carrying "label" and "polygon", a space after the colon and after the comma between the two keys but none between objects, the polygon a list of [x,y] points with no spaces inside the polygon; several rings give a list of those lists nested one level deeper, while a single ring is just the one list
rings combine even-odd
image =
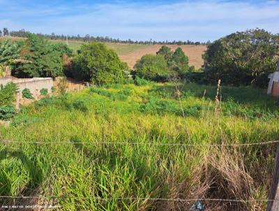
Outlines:
[{"label": "overgrown lot of tall yellow-green grass behind the wire fence", "polygon": [[[262,89],[222,87],[216,107],[216,87],[180,84],[179,103],[175,87],[94,87],[22,108],[10,126],[0,127],[1,140],[21,142],[0,141],[0,194],[47,197],[1,198],[1,203],[50,203],[59,210],[189,210],[194,201],[152,198],[266,199],[276,145],[209,144],[278,140],[275,99]],[[266,205],[202,203],[206,210],[265,210]]]}]

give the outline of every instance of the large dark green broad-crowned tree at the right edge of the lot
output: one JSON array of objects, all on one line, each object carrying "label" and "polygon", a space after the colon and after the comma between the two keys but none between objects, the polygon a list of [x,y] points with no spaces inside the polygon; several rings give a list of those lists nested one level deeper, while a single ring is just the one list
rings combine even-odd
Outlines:
[{"label": "large dark green broad-crowned tree at the right edge of the lot", "polygon": [[263,29],[236,32],[208,46],[203,56],[206,77],[232,85],[265,87],[278,54],[278,35]]}]

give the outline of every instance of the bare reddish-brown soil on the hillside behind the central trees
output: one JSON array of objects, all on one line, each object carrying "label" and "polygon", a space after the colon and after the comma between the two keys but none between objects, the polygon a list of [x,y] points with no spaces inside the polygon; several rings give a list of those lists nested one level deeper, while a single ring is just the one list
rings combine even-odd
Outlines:
[{"label": "bare reddish-brown soil on the hillside behind the central trees", "polygon": [[[140,59],[144,54],[156,54],[162,45],[146,45],[145,48],[135,49],[133,52],[127,54],[119,54],[122,61],[127,62],[130,68],[133,68],[136,61]],[[206,50],[206,45],[167,45],[172,50],[180,47],[183,52],[189,58],[190,66],[195,66],[195,68],[201,68],[204,64],[204,59],[202,59],[202,54]]]}]

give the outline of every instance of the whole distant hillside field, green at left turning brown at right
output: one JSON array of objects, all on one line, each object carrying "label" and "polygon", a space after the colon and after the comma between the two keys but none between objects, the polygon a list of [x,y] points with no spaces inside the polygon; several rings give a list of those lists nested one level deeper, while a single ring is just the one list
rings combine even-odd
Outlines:
[{"label": "whole distant hillside field, green at left turning brown at right", "polygon": [[[0,41],[3,38],[0,38]],[[12,40],[22,40],[24,38],[11,37]],[[65,41],[52,41],[65,42]],[[69,41],[69,47],[76,52],[82,45],[81,41]],[[135,62],[140,59],[144,54],[156,54],[162,45],[136,45],[136,44],[123,44],[123,43],[105,43],[108,48],[111,48],[117,52],[122,61],[127,62],[130,68],[133,68]],[[175,50],[181,47],[185,54],[189,57],[190,66],[200,68],[204,64],[202,54],[206,50],[206,45],[168,45],[169,48]]]}]

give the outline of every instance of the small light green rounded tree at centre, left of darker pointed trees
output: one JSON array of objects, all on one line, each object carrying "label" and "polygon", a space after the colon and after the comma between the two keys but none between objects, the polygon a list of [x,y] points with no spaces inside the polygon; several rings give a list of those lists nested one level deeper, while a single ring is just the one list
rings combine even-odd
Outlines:
[{"label": "small light green rounded tree at centre, left of darker pointed trees", "polygon": [[164,81],[167,78],[167,61],[162,54],[145,54],[134,68],[135,75],[146,80]]}]

